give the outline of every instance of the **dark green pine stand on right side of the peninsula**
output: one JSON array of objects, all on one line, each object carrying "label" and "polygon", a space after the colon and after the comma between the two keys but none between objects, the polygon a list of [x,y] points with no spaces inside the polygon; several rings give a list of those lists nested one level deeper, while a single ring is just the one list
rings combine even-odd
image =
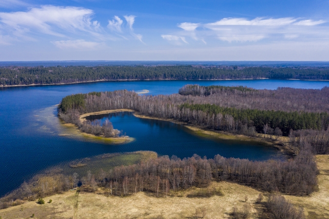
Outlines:
[{"label": "dark green pine stand on right side of the peninsula", "polygon": [[[274,110],[251,110],[224,108],[211,104],[189,104],[180,105],[180,110],[187,114],[187,122],[198,123],[196,112],[203,111],[205,116],[203,123],[208,127],[218,130],[235,129],[236,132],[244,125],[255,127],[255,131],[264,131],[264,125],[268,124],[272,129],[279,128],[284,135],[288,136],[290,130],[314,129],[322,130],[328,128],[329,114],[327,112],[285,112]],[[202,120],[200,121],[202,123]]]}]

